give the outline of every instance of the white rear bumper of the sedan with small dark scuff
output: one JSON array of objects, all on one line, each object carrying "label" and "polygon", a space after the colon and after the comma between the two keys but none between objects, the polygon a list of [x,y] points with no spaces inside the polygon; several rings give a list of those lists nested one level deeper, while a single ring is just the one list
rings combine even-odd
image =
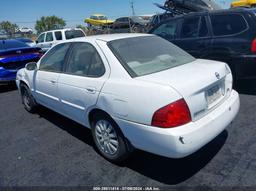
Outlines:
[{"label": "white rear bumper of the sedan with small dark scuff", "polygon": [[178,128],[162,129],[114,118],[131,144],[170,158],[186,157],[218,136],[235,118],[240,101],[236,91],[203,118]]}]

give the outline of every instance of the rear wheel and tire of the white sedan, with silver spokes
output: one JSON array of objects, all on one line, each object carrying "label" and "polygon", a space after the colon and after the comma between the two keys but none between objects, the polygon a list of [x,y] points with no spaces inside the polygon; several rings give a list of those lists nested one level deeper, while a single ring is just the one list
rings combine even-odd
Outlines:
[{"label": "rear wheel and tire of the white sedan, with silver spokes", "polygon": [[125,139],[118,125],[107,114],[94,115],[91,127],[96,148],[108,161],[121,163],[131,155],[133,147]]}]

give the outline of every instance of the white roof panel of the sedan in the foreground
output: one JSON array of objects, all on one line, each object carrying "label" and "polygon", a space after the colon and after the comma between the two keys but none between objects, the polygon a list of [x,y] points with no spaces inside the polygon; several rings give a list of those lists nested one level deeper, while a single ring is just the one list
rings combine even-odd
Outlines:
[{"label": "white roof panel of the sedan in the foreground", "polygon": [[140,34],[140,33],[122,33],[122,34],[104,34],[104,35],[93,35],[82,38],[75,38],[69,41],[85,41],[85,40],[101,40],[110,42],[113,40],[119,40],[124,38],[141,37],[141,36],[153,36],[152,34]]}]

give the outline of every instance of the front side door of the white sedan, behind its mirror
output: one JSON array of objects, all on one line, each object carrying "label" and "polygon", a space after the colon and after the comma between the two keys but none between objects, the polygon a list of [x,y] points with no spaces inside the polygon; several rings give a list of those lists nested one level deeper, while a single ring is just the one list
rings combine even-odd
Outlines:
[{"label": "front side door of the white sedan, behind its mirror", "polygon": [[59,112],[58,79],[63,71],[65,57],[70,43],[53,47],[40,61],[39,69],[34,76],[34,91],[36,100]]}]

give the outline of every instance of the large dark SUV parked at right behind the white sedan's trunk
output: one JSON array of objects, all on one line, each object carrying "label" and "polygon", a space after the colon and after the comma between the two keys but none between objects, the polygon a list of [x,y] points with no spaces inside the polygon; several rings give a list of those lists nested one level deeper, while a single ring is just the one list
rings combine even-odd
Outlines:
[{"label": "large dark SUV parked at right behind the white sedan's trunk", "polygon": [[229,64],[238,89],[256,90],[256,9],[191,13],[169,19],[150,33],[196,58]]}]

